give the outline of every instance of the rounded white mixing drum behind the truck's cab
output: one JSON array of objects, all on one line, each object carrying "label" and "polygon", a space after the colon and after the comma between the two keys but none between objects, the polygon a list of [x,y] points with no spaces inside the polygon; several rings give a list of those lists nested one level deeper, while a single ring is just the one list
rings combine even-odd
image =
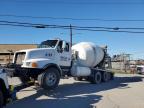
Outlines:
[{"label": "rounded white mixing drum behind the truck's cab", "polygon": [[72,46],[72,51],[77,52],[77,65],[95,67],[104,58],[104,50],[91,42],[81,42]]}]

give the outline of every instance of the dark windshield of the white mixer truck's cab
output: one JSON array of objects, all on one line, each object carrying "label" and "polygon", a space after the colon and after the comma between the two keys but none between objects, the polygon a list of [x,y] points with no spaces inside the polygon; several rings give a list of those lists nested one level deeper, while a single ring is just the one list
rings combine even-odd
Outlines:
[{"label": "dark windshield of the white mixer truck's cab", "polygon": [[40,45],[38,45],[38,48],[54,48],[57,44],[58,40],[47,40],[41,42]]}]

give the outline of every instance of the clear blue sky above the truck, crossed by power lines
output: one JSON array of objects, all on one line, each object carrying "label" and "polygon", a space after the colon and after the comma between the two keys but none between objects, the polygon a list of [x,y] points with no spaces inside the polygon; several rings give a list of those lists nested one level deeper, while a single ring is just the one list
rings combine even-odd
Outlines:
[{"label": "clear blue sky above the truck, crossed by power lines", "polygon": [[[144,28],[143,11],[143,0],[0,0],[0,21],[33,24]],[[30,18],[3,15],[102,20]],[[132,54],[133,59],[144,59],[144,33],[72,31],[74,43],[94,42],[100,46],[107,45],[110,55],[128,53]],[[141,31],[144,32],[144,30]],[[0,25],[0,44],[39,44],[41,41],[57,37],[69,41],[70,30]]]}]

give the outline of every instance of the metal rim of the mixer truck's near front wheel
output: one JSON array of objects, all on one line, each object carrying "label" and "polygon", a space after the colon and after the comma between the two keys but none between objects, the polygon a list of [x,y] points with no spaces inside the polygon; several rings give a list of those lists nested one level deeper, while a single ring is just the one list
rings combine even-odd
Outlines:
[{"label": "metal rim of the mixer truck's near front wheel", "polygon": [[47,73],[47,76],[46,76],[46,84],[48,86],[53,86],[55,85],[57,81],[57,77],[56,77],[56,74],[55,73]]}]

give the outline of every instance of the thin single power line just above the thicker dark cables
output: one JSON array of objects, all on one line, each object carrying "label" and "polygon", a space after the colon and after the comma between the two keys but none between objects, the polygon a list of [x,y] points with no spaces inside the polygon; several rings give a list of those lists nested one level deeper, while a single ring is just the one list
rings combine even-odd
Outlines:
[{"label": "thin single power line just above the thicker dark cables", "polygon": [[23,16],[12,14],[0,14],[0,17],[29,18],[29,19],[52,19],[52,20],[78,20],[78,21],[111,21],[111,22],[143,22],[144,19],[102,19],[102,18],[71,18],[51,16]]}]

